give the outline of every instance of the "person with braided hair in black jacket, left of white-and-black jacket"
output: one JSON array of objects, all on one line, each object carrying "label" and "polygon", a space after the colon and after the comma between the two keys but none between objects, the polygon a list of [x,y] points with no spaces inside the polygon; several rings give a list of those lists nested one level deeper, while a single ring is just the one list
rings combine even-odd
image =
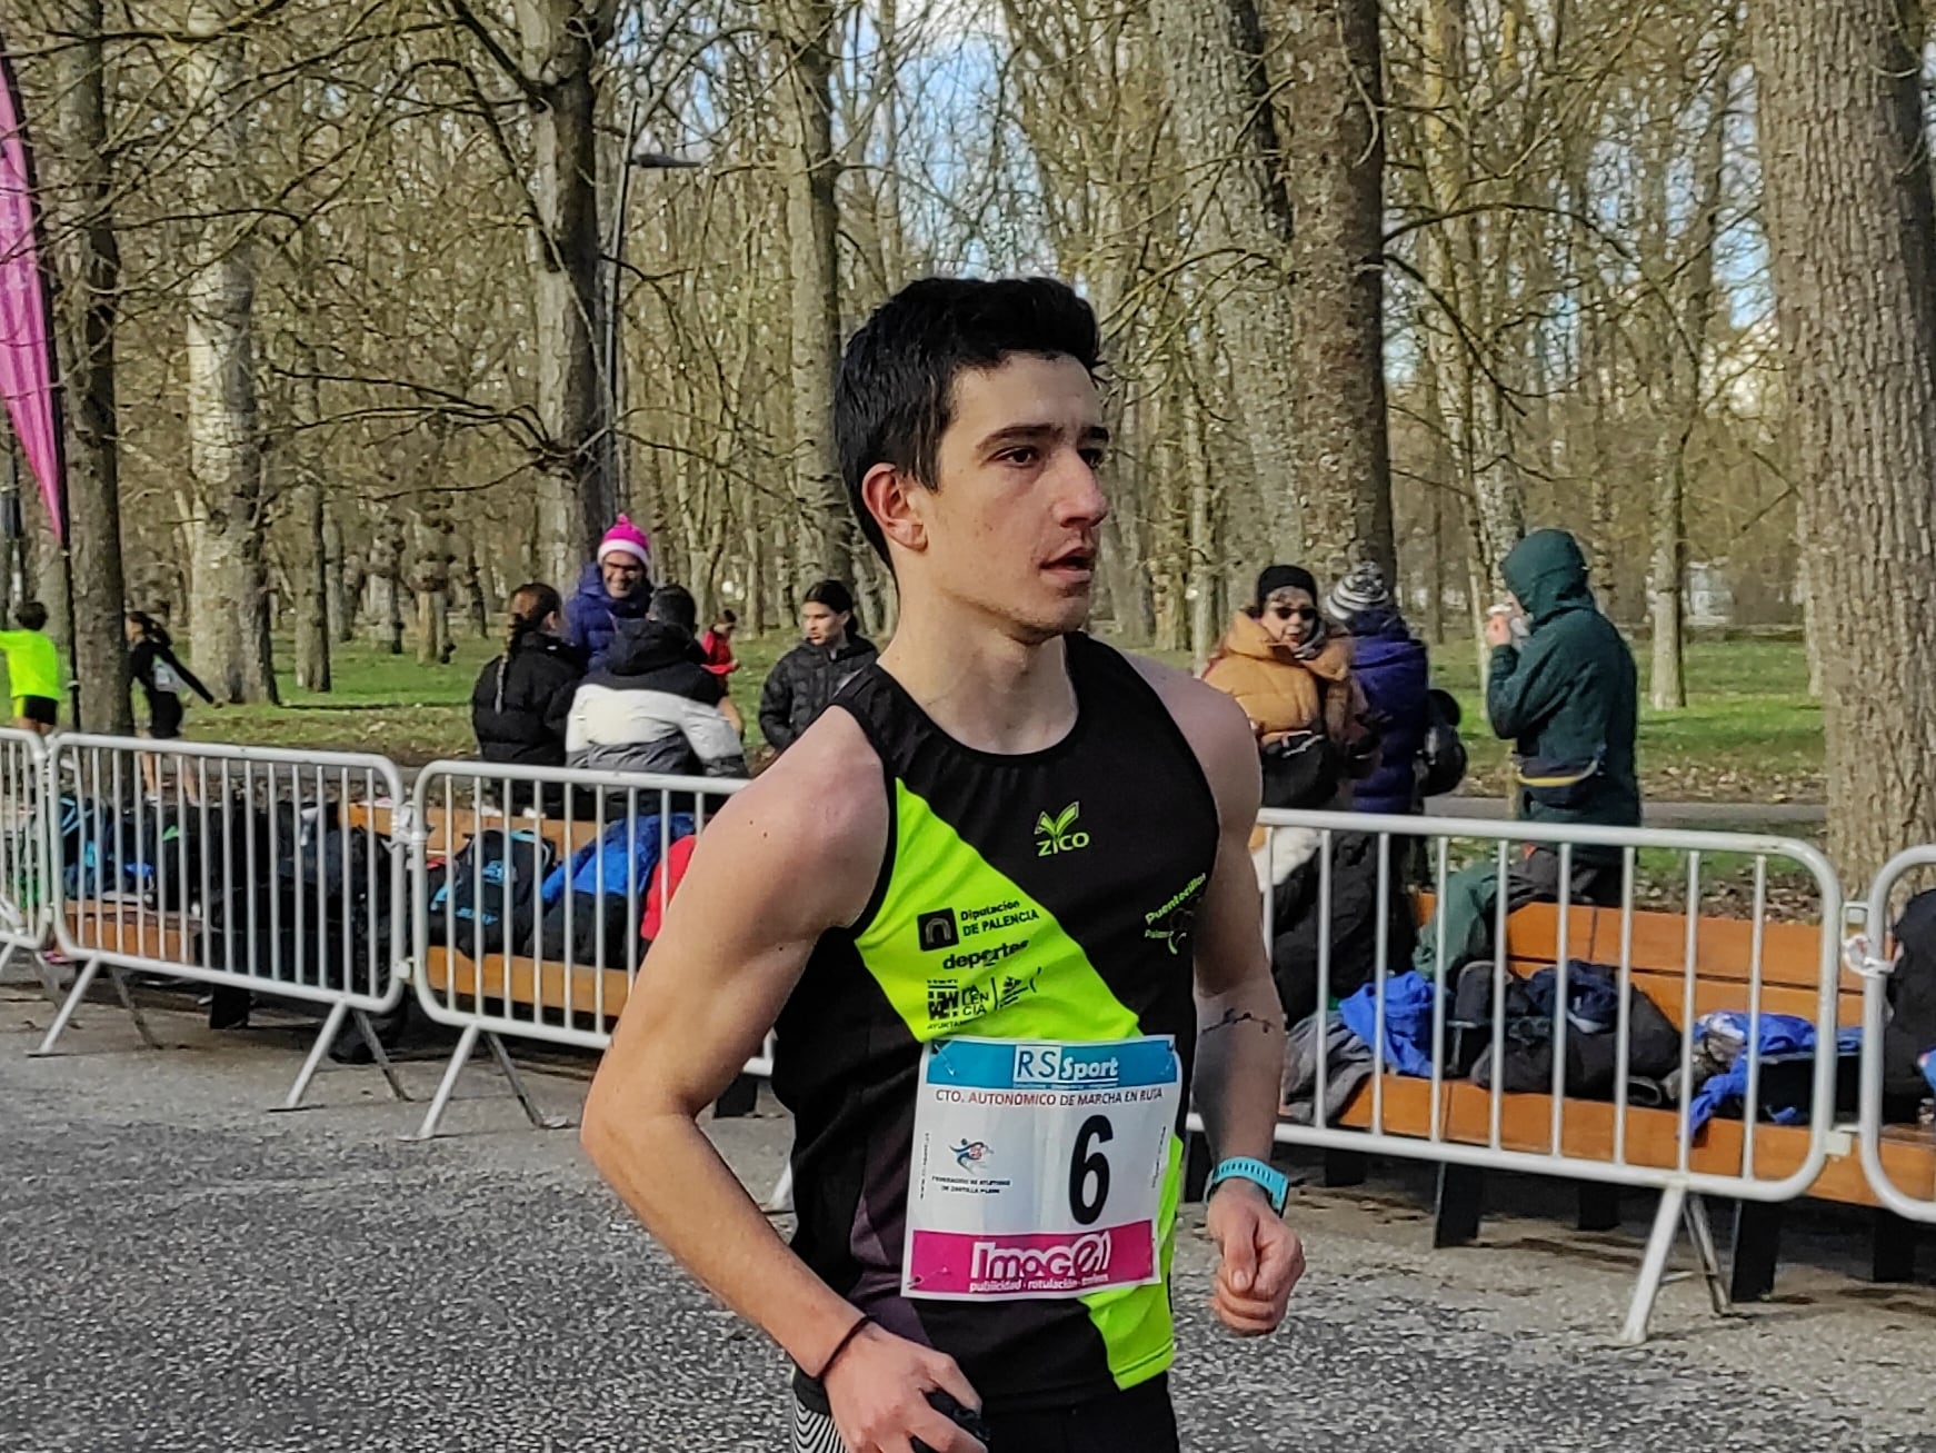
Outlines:
[{"label": "person with braided hair in black jacket, left of white-and-black jacket", "polygon": [[[565,765],[565,719],[585,665],[577,647],[558,637],[560,622],[550,585],[532,581],[513,591],[503,655],[484,666],[470,692],[470,726],[484,761]],[[513,808],[530,800],[525,790],[513,796]]]}]

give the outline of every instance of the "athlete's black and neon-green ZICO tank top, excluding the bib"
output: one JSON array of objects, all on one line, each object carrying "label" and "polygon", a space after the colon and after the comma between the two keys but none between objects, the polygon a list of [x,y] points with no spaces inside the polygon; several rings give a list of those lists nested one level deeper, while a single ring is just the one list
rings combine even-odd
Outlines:
[{"label": "athlete's black and neon-green ZICO tank top, excluding the bib", "polygon": [[[951,1035],[1196,1044],[1191,930],[1218,847],[1210,785],[1150,684],[1067,637],[1076,723],[1026,756],[947,736],[879,666],[836,697],[879,754],[887,858],[860,920],[825,934],[780,1013],[794,1112],[794,1250],[889,1331],[953,1356],[997,1410],[1167,1370],[1181,1124],[1162,1197],[1165,1284],[1071,1300],[900,1296],[922,1046]],[[1187,1104],[1187,1098],[1185,1098]],[[802,1401],[823,1403],[796,1379]]]}]

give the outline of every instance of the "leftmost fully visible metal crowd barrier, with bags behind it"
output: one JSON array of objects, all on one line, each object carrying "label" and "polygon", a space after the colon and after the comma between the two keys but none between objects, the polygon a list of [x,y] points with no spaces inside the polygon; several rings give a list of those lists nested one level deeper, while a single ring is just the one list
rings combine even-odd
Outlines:
[{"label": "leftmost fully visible metal crowd barrier, with bags behind it", "polygon": [[347,821],[403,802],[387,757],[54,736],[45,777],[52,928],[79,973],[35,1054],[52,1054],[95,974],[159,1048],[126,974],[209,984],[242,1015],[273,996],[329,1007],[283,1108],[354,1023],[397,1098],[372,1025],[405,996],[405,858]]}]

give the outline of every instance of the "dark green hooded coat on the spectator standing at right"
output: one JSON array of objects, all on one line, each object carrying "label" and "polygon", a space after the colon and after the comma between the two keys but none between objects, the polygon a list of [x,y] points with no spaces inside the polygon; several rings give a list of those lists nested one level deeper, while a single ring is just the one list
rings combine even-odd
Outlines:
[{"label": "dark green hooded coat on the spectator standing at right", "polygon": [[1500,570],[1531,632],[1493,651],[1485,709],[1493,730],[1518,744],[1520,816],[1638,827],[1634,653],[1593,604],[1578,542],[1533,531]]}]

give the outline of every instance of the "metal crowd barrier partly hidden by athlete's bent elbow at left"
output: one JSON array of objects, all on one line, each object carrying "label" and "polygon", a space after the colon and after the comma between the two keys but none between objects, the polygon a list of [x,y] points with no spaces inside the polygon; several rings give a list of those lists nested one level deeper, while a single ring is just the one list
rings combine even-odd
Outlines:
[{"label": "metal crowd barrier partly hidden by athlete's bent elbow at left", "polygon": [[[482,1038],[534,1126],[505,1036],[602,1050],[643,957],[647,899],[674,845],[745,787],[567,767],[436,761],[416,777],[410,961],[416,1002],[461,1031],[424,1116],[436,1135]],[[492,833],[494,837],[484,837]],[[552,889],[552,891],[548,891]],[[771,1048],[747,1073],[771,1075]]]}]

